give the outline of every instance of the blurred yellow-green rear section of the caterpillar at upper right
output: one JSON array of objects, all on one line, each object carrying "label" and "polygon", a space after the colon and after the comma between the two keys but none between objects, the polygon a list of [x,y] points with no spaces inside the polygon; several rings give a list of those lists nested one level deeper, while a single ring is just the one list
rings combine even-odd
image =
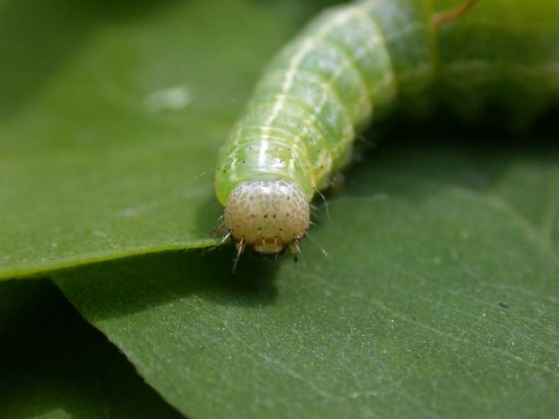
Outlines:
[{"label": "blurred yellow-green rear section of the caterpillar at upper right", "polygon": [[433,96],[456,115],[475,122],[496,103],[504,125],[525,126],[559,99],[559,1],[477,1],[437,29],[437,63]]}]

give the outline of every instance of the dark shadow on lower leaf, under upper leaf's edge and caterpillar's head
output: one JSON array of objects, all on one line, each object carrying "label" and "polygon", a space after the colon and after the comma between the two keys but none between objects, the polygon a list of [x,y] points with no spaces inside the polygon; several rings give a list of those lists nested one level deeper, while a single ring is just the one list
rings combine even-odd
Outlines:
[{"label": "dark shadow on lower leaf, under upper leaf's edge and caterpillar's head", "polygon": [[[243,255],[233,272],[235,248],[175,251],[85,265],[57,274],[57,284],[103,295],[103,318],[126,316],[187,297],[218,304],[261,307],[273,304],[278,266],[274,260]],[[74,288],[74,287],[72,287]],[[96,318],[96,320],[99,320]]]}]

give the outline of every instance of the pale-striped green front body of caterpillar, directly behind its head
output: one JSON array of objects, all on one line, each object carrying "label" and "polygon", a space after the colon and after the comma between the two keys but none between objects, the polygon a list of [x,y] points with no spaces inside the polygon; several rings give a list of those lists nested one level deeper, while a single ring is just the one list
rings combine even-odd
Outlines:
[{"label": "pale-striped green front body of caterpillar, directly behind its head", "polygon": [[356,131],[393,105],[398,72],[404,91],[433,79],[434,48],[408,45],[433,44],[428,2],[421,3],[368,0],[326,10],[279,52],[222,149],[220,202],[263,173],[297,182],[309,200],[324,188],[349,161]]}]

